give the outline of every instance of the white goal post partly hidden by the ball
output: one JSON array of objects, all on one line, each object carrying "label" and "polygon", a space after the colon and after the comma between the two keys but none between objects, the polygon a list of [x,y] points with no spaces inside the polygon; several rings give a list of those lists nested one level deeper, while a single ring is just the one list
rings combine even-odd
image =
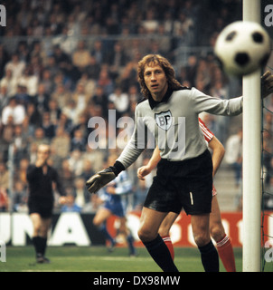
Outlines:
[{"label": "white goal post partly hidden by the ball", "polygon": [[[260,24],[260,0],[243,0],[243,21]],[[261,98],[260,70],[243,77],[243,272],[261,270]]]}]

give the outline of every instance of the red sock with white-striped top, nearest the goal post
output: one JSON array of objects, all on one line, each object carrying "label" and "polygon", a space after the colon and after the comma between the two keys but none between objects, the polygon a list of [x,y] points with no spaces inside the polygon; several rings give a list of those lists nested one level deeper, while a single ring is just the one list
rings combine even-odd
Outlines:
[{"label": "red sock with white-striped top, nearest the goal post", "polygon": [[227,272],[236,272],[235,259],[231,239],[227,235],[217,242],[218,254],[221,258],[222,265]]}]

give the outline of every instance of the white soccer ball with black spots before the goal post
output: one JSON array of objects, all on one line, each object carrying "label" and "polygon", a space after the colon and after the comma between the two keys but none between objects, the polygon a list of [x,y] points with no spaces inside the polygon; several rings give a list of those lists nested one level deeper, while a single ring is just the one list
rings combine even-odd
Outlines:
[{"label": "white soccer ball with black spots before the goal post", "polygon": [[214,53],[222,69],[231,75],[242,76],[266,65],[271,52],[266,30],[254,22],[237,21],[219,34]]}]

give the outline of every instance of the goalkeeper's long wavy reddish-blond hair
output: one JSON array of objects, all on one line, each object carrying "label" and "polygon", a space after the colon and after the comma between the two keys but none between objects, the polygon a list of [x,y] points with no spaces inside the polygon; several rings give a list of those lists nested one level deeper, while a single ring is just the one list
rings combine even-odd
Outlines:
[{"label": "goalkeeper's long wavy reddish-blond hair", "polygon": [[138,62],[137,66],[137,80],[140,84],[141,92],[143,93],[146,99],[150,94],[144,80],[144,71],[146,65],[147,66],[160,65],[165,72],[169,88],[171,88],[172,90],[174,91],[179,90],[182,87],[180,82],[178,82],[175,79],[173,66],[171,65],[171,63],[169,63],[169,61],[165,57],[161,56],[160,54],[147,54],[145,57],[143,57],[142,60]]}]

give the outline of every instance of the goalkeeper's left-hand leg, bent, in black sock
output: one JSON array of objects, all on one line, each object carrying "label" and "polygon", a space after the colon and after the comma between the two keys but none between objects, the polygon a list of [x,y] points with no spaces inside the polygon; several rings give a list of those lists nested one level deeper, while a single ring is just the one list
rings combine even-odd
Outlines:
[{"label": "goalkeeper's left-hand leg, bent, in black sock", "polygon": [[164,272],[178,272],[168,248],[158,234],[158,229],[166,214],[165,212],[144,207],[140,217],[138,237],[155,260],[155,263]]}]

